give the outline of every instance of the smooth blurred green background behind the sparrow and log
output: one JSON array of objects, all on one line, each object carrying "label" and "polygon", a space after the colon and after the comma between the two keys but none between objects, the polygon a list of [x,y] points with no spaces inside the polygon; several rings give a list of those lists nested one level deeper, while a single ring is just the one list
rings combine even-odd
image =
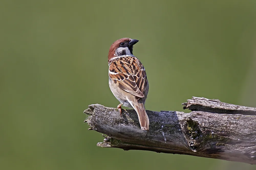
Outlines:
[{"label": "smooth blurred green background behind the sparrow and log", "polygon": [[119,102],[108,50],[140,40],[148,110],[192,96],[256,107],[256,1],[0,2],[0,169],[256,169],[187,155],[99,148],[83,110]]}]

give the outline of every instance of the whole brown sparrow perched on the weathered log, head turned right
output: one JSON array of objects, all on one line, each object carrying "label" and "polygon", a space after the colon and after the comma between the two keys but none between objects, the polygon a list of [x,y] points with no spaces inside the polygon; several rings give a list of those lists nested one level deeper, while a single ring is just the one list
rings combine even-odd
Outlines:
[{"label": "whole brown sparrow perched on the weathered log, head turned right", "polygon": [[132,53],[133,45],[138,40],[121,38],[109,48],[109,87],[120,104],[117,106],[120,115],[122,105],[133,108],[142,130],[149,129],[149,120],[144,107],[148,94],[148,80],[144,66]]}]

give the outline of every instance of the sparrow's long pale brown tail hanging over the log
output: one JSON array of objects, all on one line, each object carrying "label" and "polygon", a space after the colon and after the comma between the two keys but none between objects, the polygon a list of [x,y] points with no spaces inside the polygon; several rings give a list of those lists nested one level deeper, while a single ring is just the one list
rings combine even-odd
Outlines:
[{"label": "sparrow's long pale brown tail hanging over the log", "polygon": [[149,129],[149,120],[143,103],[134,103],[134,109],[137,112],[142,130]]}]

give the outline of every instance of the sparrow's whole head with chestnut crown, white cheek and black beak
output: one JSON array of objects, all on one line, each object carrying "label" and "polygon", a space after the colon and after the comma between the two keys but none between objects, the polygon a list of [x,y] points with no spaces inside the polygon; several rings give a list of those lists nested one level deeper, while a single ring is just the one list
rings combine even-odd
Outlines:
[{"label": "sparrow's whole head with chestnut crown, white cheek and black beak", "polygon": [[118,56],[133,56],[133,45],[136,44],[138,41],[139,40],[131,38],[121,38],[119,40],[116,40],[109,48],[108,60]]}]

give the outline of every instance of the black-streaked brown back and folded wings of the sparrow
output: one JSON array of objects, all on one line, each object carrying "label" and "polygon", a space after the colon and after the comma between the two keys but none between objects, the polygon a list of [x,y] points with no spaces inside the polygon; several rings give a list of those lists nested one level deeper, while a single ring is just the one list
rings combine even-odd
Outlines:
[{"label": "black-streaked brown back and folded wings of the sparrow", "polygon": [[142,63],[135,57],[122,57],[113,60],[109,66],[109,77],[124,91],[144,97],[147,86],[146,72]]}]

